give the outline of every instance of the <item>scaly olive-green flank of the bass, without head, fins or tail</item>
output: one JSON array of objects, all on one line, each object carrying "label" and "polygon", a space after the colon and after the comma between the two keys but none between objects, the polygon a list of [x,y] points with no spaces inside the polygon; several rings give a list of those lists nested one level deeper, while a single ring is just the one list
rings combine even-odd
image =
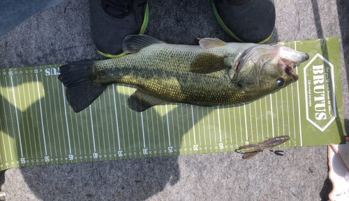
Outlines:
[{"label": "scaly olive-green flank of the bass, without head, fins or tail", "polygon": [[225,78],[225,72],[190,72],[191,63],[202,54],[202,49],[195,47],[180,51],[176,46],[178,45],[151,45],[138,54],[96,63],[94,68],[101,82],[135,85],[154,97],[172,102],[208,104],[244,101],[244,96],[237,95],[237,89],[230,79]]}]

